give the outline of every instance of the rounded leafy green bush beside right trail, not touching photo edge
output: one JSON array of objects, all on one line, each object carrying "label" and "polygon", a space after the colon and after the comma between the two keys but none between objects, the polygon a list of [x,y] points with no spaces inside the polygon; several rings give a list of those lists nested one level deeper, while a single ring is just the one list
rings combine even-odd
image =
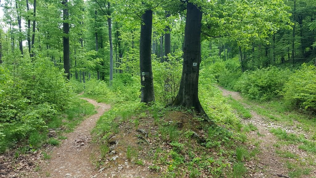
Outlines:
[{"label": "rounded leafy green bush beside right trail, not touching photo edge", "polygon": [[281,97],[284,84],[292,72],[289,69],[267,67],[244,72],[234,89],[256,100],[270,100]]}]

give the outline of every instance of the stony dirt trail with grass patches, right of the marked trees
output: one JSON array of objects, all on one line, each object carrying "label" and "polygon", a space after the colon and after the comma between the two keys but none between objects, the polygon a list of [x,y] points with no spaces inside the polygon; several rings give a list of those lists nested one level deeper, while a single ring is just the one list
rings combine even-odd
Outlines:
[{"label": "stony dirt trail with grass patches, right of the marked trees", "polygon": [[[232,92],[219,87],[223,96],[231,96],[233,99],[242,103],[242,97],[239,92]],[[246,108],[250,108],[249,105],[242,103]],[[260,153],[257,155],[257,162],[248,162],[247,166],[251,172],[250,177],[263,178],[263,177],[278,177],[276,174],[288,175],[289,170],[284,163],[289,159],[280,157],[276,154],[276,147],[273,146],[277,142],[277,138],[269,132],[271,125],[274,123],[265,120],[263,116],[258,115],[255,111],[250,109],[252,114],[251,119],[242,119],[244,124],[253,124],[258,128],[257,131],[252,131],[247,134],[249,139],[253,139],[259,142]],[[260,133],[260,135],[258,135]],[[304,152],[298,150],[296,146],[283,147],[282,150],[289,151],[298,154],[300,157],[307,156]],[[304,155],[305,154],[305,155]],[[313,176],[307,175],[306,177]],[[302,176],[304,177],[304,176]]]}]

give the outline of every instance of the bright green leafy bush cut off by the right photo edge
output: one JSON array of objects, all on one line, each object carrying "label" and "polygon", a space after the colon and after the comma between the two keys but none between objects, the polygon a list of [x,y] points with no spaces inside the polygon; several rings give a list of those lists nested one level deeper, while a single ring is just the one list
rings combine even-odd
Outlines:
[{"label": "bright green leafy bush cut off by the right photo edge", "polygon": [[316,67],[302,64],[284,86],[284,99],[295,106],[316,111]]}]

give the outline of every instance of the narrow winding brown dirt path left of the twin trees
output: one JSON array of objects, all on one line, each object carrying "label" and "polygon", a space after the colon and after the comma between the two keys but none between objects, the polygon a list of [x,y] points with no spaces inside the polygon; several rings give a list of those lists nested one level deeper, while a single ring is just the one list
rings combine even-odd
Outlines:
[{"label": "narrow winding brown dirt path left of the twin trees", "polygon": [[51,160],[41,165],[39,175],[31,175],[30,177],[90,178],[97,175],[90,157],[98,150],[94,149],[94,145],[90,143],[90,133],[100,116],[111,106],[97,103],[92,99],[82,99],[93,104],[98,113],[86,118],[74,132],[65,135],[67,140],[64,140],[59,147],[53,149]]}]

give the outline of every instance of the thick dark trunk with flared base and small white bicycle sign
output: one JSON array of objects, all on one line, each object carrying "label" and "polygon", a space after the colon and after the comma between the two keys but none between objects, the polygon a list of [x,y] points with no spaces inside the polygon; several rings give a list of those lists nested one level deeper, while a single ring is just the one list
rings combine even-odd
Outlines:
[{"label": "thick dark trunk with flared base and small white bicycle sign", "polygon": [[193,3],[187,3],[184,32],[183,70],[178,95],[173,106],[194,108],[207,117],[198,99],[198,77],[201,63],[202,12]]}]

